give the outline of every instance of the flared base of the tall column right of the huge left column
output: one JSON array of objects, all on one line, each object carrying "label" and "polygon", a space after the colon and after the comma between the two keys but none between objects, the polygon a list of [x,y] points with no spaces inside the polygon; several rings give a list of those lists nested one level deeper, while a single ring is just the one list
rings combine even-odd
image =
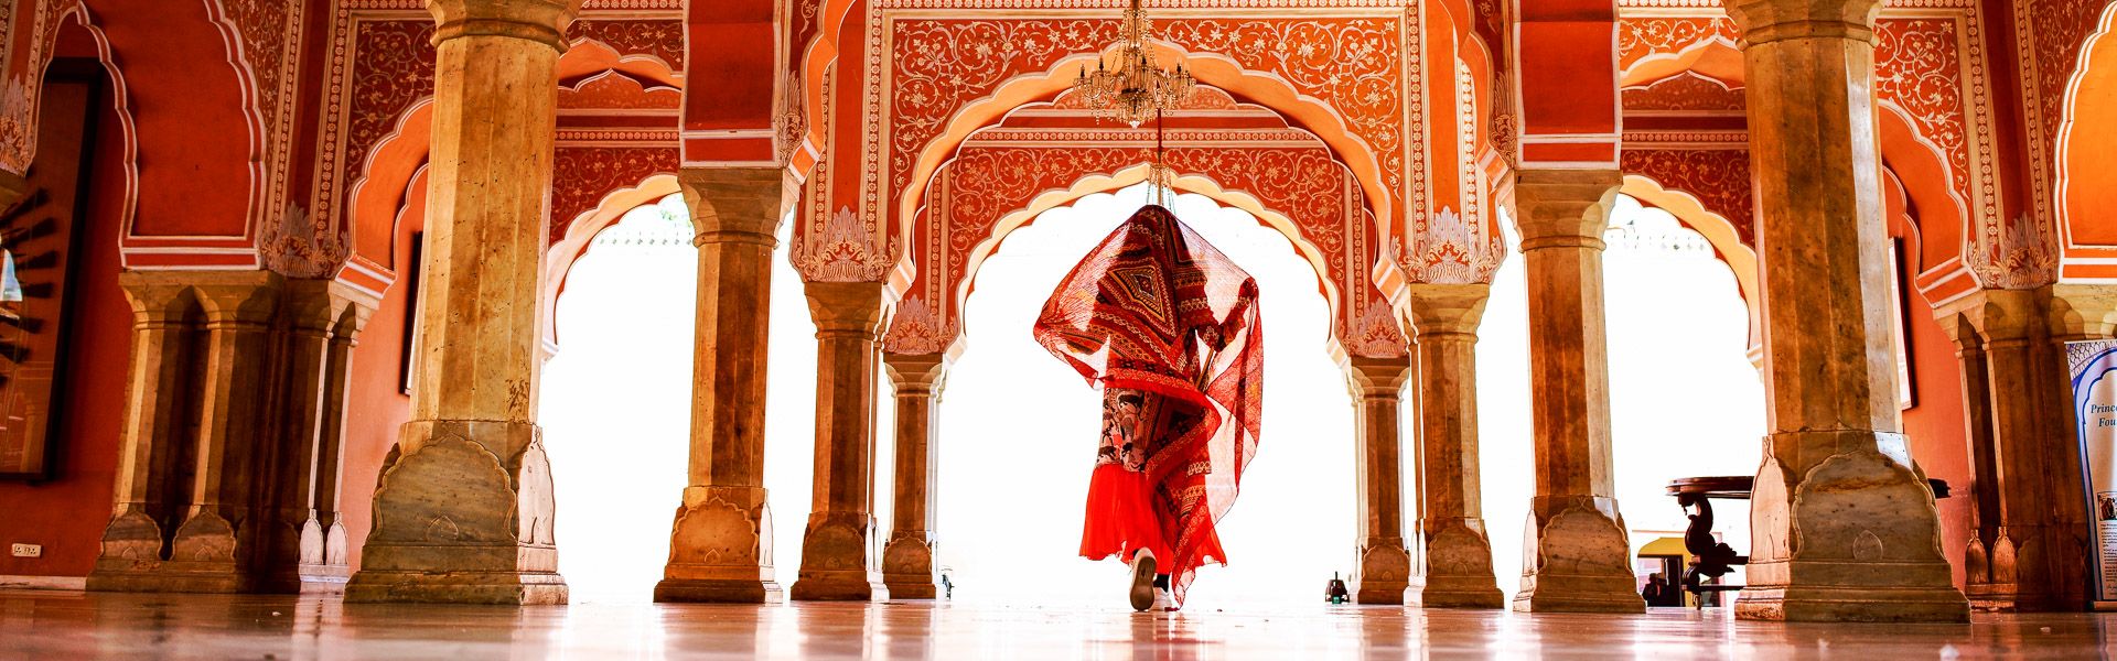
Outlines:
[{"label": "flared base of the tall column right of the huge left column", "polygon": [[684,487],[654,602],[771,604],[773,508],[764,487]]}]

